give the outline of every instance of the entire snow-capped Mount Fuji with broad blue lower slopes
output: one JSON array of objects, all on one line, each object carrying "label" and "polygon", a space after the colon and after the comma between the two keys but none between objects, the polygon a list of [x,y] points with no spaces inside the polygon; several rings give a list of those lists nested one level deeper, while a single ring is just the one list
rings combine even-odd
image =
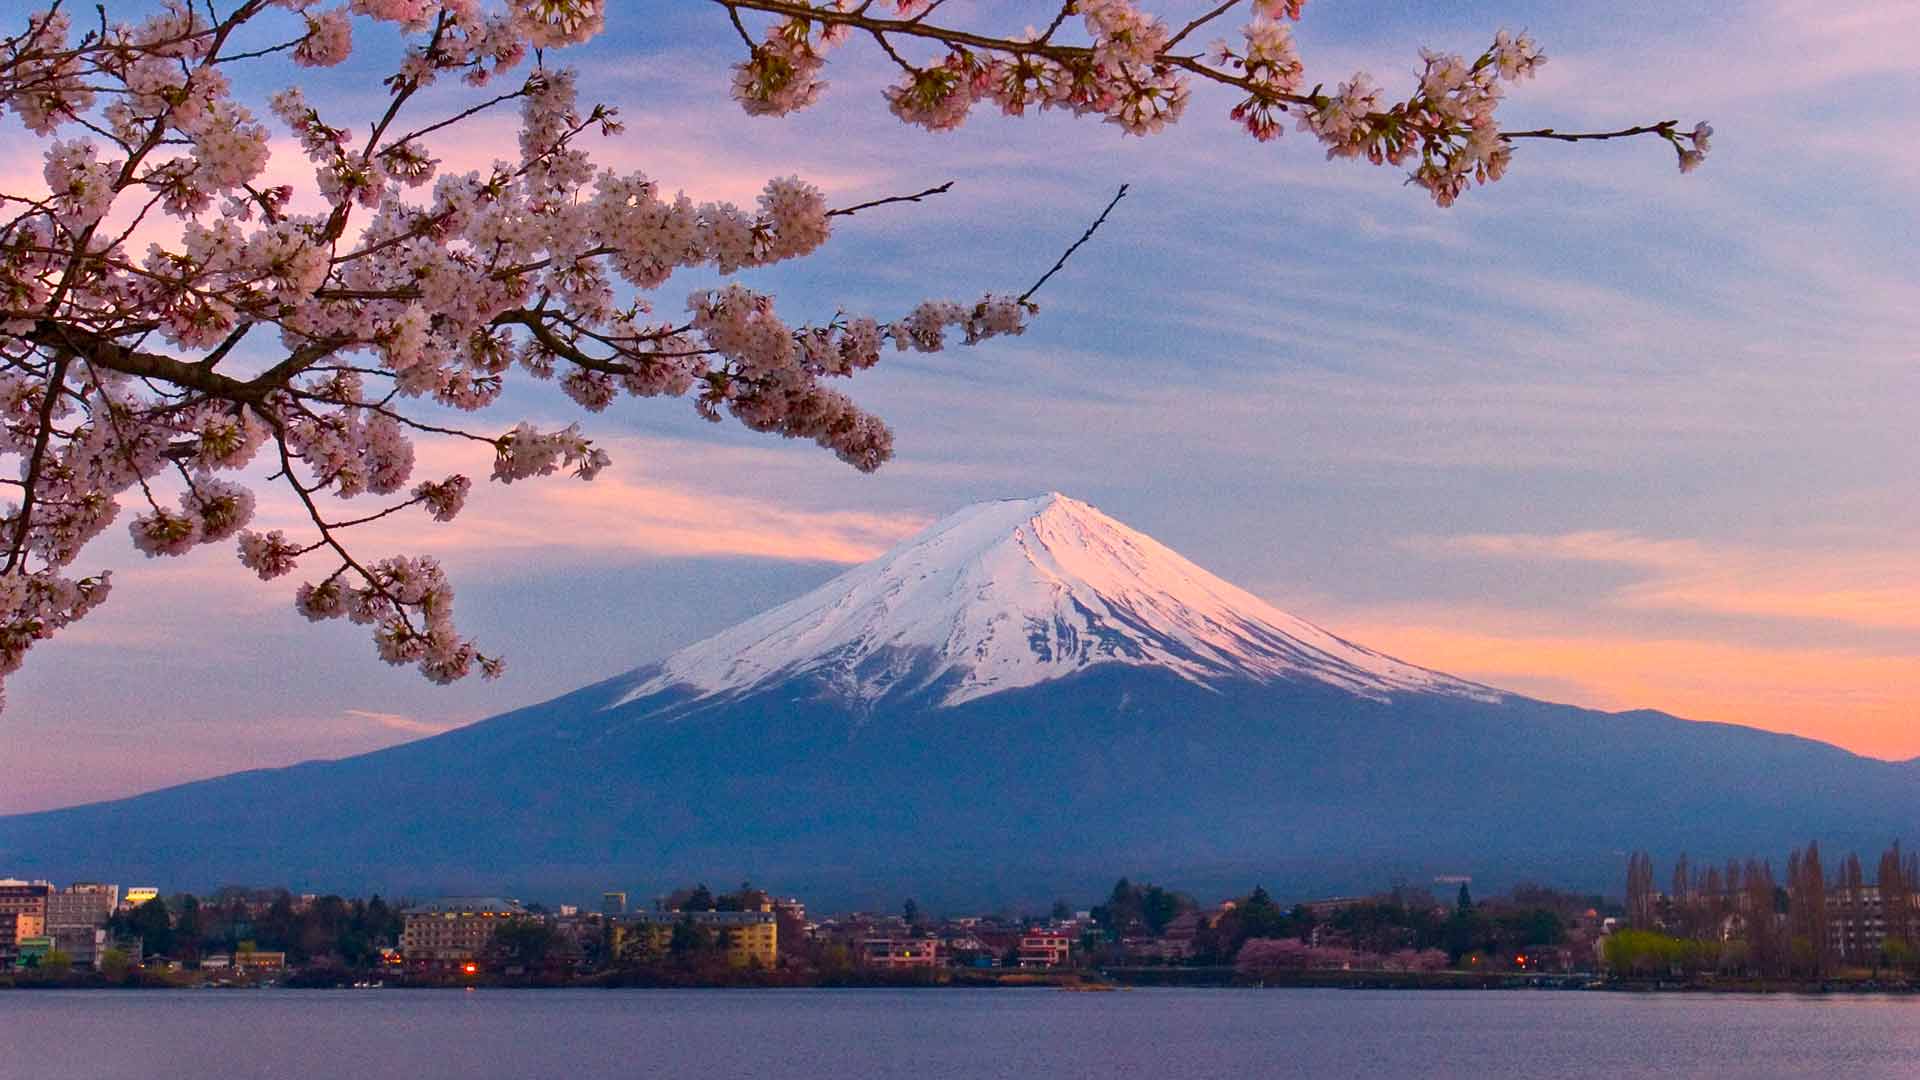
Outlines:
[{"label": "entire snow-capped Mount Fuji with broad blue lower slopes", "polygon": [[1866,851],[1916,824],[1920,763],[1428,671],[1048,494],[447,734],[0,817],[0,869],[530,897],[751,878],[977,909],[1119,874],[1617,890],[1638,847]]}]

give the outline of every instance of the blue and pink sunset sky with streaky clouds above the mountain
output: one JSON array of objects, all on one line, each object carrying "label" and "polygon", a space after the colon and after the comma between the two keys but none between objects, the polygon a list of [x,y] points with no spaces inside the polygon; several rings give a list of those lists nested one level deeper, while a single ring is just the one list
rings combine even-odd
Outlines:
[{"label": "blue and pink sunset sky with streaky clouds above the mountain", "polygon": [[[968,17],[1018,29],[1039,8]],[[820,106],[764,119],[728,100],[737,42],[718,8],[614,6],[611,23],[553,58],[624,110],[626,133],[593,146],[609,165],[739,204],[781,175],[841,206],[954,181],[741,275],[793,319],[1018,292],[1117,184],[1131,194],[1023,336],[889,354],[849,384],[897,432],[876,475],[685,402],[620,400],[586,419],[614,450],[599,480],[476,484],[457,525],[369,528],[363,552],[444,559],[463,630],[509,659],[499,682],[430,686],[378,663],[363,628],[305,623],[288,580],[253,580],[225,546],[156,561],[111,528],[77,565],[115,571],[111,601],[8,680],[0,813],[541,701],[960,505],[1044,490],[1413,663],[1920,755],[1920,8],[1309,4],[1309,81],[1367,69],[1404,90],[1419,46],[1473,54],[1511,27],[1551,60],[1503,106],[1507,127],[1716,129],[1690,177],[1655,140],[1530,144],[1452,209],[1296,133],[1258,144],[1206,88],[1154,138],[987,111],[931,135],[885,111],[887,73],[851,50]],[[340,115],[365,102],[365,127],[396,42],[359,33],[346,69],[238,85],[259,100],[300,81]],[[8,119],[0,150],[6,190],[38,183],[40,150]],[[511,119],[434,150],[484,167],[511,154]],[[273,169],[303,179],[298,154]],[[714,281],[674,279],[655,302],[674,311]],[[472,423],[520,419],[580,417],[522,382]],[[419,455],[420,477],[490,471],[484,448]],[[259,521],[296,517],[265,498]]]}]

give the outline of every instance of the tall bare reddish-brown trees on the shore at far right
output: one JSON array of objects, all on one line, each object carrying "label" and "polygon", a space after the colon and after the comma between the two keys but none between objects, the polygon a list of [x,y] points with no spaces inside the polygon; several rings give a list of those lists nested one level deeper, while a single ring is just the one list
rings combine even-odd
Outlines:
[{"label": "tall bare reddish-brown trees on the shore at far right", "polygon": [[1920,963],[1920,859],[1895,842],[1868,880],[1847,853],[1828,871],[1818,844],[1770,861],[1674,861],[1668,888],[1653,859],[1626,861],[1628,930],[1605,945],[1622,974],[1826,978],[1841,969],[1912,972]]}]

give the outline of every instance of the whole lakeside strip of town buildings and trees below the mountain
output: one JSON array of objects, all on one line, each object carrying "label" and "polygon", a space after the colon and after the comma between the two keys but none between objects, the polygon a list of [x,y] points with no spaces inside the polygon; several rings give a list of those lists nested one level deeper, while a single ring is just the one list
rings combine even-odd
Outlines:
[{"label": "whole lakeside strip of town buildings and trees below the mountain", "polygon": [[1895,844],[1868,884],[1818,846],[1770,863],[1692,867],[1624,899],[1467,876],[1281,903],[1263,888],[1210,905],[1116,882],[1046,915],[810,917],[799,897],[705,884],[630,903],[0,880],[0,986],[1551,986],[1912,988],[1920,863]]}]

